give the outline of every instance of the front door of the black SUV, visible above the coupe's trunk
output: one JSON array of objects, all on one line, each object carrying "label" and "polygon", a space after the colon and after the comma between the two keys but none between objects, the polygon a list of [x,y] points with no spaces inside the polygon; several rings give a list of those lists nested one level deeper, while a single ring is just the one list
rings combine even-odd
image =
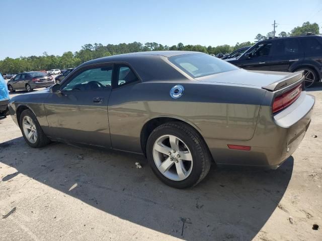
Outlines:
[{"label": "front door of the black SUV, visible above the coupe's trunk", "polygon": [[235,65],[248,70],[270,70],[272,42],[260,42],[235,61]]}]

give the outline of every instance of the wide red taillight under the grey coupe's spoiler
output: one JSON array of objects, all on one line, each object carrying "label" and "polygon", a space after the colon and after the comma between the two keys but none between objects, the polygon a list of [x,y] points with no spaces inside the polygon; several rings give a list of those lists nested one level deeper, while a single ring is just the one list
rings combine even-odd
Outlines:
[{"label": "wide red taillight under the grey coupe's spoiler", "polygon": [[298,96],[300,96],[302,91],[302,85],[297,85],[295,88],[291,89],[290,91],[287,91],[286,93],[277,96],[274,99],[272,111],[273,113],[276,113],[277,111],[280,111],[290,104],[292,104]]}]

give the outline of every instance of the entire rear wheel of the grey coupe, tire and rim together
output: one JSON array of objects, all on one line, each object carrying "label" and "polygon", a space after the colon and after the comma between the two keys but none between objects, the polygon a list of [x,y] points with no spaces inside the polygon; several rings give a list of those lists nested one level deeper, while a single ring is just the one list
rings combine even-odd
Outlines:
[{"label": "entire rear wheel of the grey coupe, tire and rim together", "polygon": [[210,152],[190,126],[171,122],[157,127],[146,146],[147,160],[154,174],[174,188],[198,184],[209,172]]}]

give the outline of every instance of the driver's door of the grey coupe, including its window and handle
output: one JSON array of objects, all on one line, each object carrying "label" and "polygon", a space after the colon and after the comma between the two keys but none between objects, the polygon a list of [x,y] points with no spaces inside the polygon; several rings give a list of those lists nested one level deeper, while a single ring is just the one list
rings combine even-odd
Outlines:
[{"label": "driver's door of the grey coupe, including its window and handle", "polygon": [[66,142],[111,147],[107,104],[113,65],[79,69],[45,100],[48,136]]}]

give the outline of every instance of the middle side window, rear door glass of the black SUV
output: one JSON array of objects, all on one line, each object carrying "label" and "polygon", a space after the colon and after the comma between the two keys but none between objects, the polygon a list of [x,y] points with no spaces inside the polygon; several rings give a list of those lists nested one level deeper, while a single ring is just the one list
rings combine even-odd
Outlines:
[{"label": "middle side window, rear door glass of the black SUV", "polygon": [[274,56],[293,56],[300,54],[300,45],[297,39],[281,39],[275,41]]}]

